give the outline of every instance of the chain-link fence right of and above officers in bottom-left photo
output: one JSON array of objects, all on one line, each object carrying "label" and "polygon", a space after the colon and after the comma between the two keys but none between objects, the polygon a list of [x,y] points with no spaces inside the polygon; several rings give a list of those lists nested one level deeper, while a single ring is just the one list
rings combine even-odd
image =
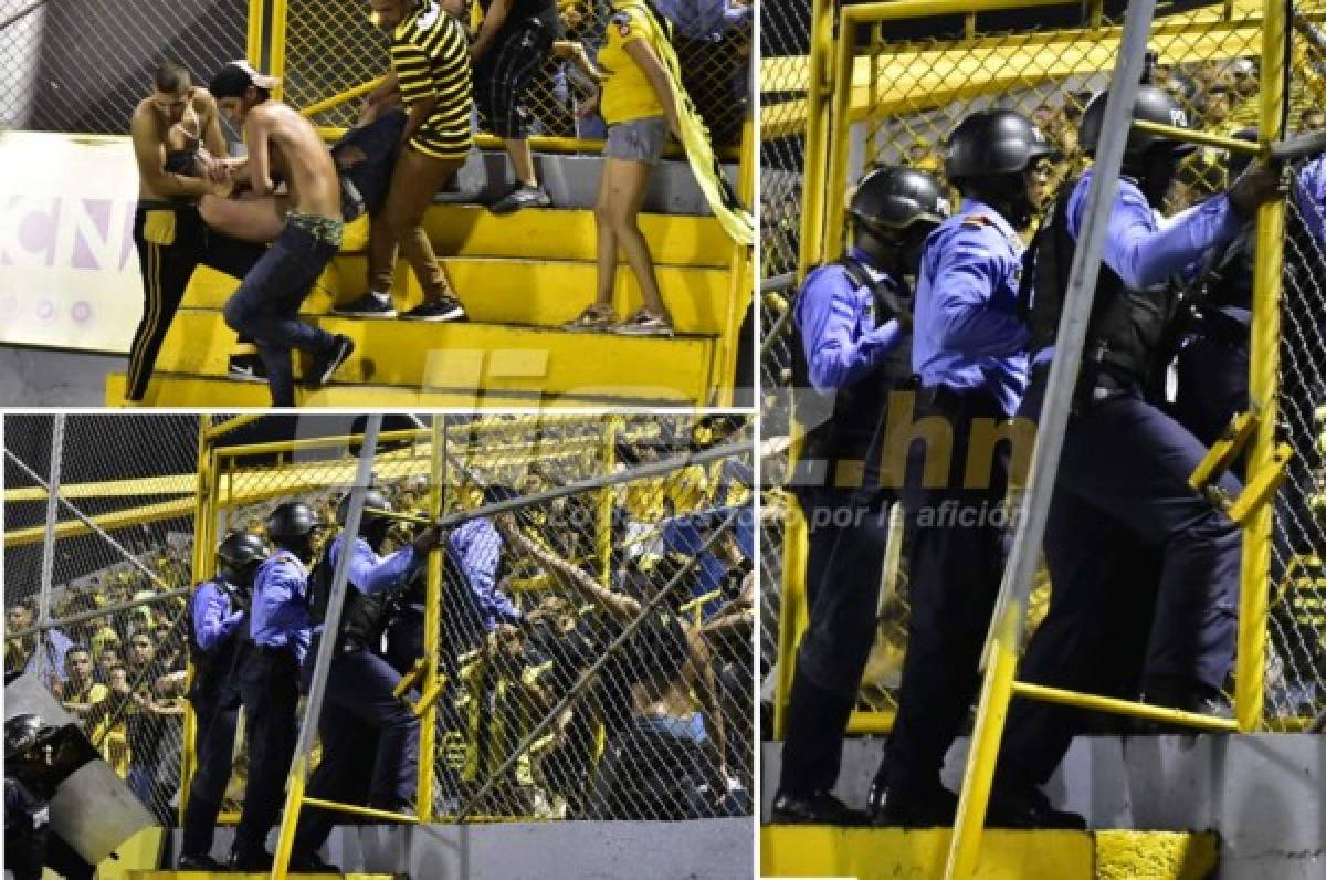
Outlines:
[{"label": "chain-link fence right of and above officers in bottom-left photo", "polygon": [[[724,451],[749,434],[744,418],[625,415],[382,434],[374,487],[398,519],[383,552],[457,520],[382,645],[414,676],[420,816],[749,812],[753,479],[749,450]],[[347,439],[216,450],[215,535],[260,531],[294,498],[334,522],[354,454]],[[499,502],[504,518],[467,516]]]}]

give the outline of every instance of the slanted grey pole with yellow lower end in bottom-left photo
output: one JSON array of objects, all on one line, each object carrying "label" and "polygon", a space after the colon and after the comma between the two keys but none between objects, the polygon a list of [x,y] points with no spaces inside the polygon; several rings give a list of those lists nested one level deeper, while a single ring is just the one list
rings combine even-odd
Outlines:
[{"label": "slanted grey pole with yellow lower end in bottom-left photo", "polygon": [[378,431],[382,429],[382,413],[369,417],[363,433],[363,446],[359,449],[359,469],[354,486],[350,487],[350,507],[345,516],[345,530],[341,532],[341,555],[337,557],[335,573],[332,577],[332,596],[328,600],[326,617],[322,621],[322,638],[318,641],[318,656],[313,665],[313,684],[304,705],[304,721],[300,723],[300,738],[294,743],[294,758],[286,780],[285,814],[281,816],[281,834],[276,844],[272,864],[272,879],[285,880],[290,864],[290,849],[294,845],[294,827],[300,819],[300,804],[304,800],[304,782],[313,753],[313,738],[317,735],[318,718],[322,715],[322,697],[326,693],[328,673],[332,656],[335,653],[335,633],[341,626],[341,605],[345,603],[346,579],[350,575],[350,559],[354,556],[354,538],[359,534],[359,520],[363,514],[363,495],[373,482],[373,457],[378,449]]}]

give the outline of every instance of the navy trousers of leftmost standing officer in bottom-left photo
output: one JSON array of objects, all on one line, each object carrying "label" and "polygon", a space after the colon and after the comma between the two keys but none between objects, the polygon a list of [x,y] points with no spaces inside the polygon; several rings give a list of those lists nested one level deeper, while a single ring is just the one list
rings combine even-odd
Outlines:
[{"label": "navy trousers of leftmost standing officer in bottom-left photo", "polygon": [[225,786],[231,780],[240,702],[239,686],[229,682],[213,693],[194,697],[198,727],[194,754],[198,759],[198,771],[190,783],[188,803],[184,806],[180,855],[204,856],[212,851],[216,816],[221,811]]}]

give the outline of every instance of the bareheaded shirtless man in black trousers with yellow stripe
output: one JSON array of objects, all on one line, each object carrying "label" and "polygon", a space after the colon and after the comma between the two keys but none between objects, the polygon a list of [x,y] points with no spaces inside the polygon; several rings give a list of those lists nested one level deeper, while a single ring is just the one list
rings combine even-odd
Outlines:
[{"label": "bareheaded shirtless man in black trousers with yellow stripe", "polygon": [[241,276],[261,250],[210,235],[199,218],[199,198],[228,192],[231,183],[216,101],[207,89],[192,84],[188,70],[174,61],[156,68],[151,96],[134,109],[130,135],[138,159],[134,244],[145,308],[129,349],[125,400],[139,403],[198,264]]}]

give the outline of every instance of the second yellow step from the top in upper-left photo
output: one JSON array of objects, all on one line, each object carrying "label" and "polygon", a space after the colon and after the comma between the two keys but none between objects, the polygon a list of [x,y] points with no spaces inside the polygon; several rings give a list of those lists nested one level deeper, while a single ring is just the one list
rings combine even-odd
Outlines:
[{"label": "second yellow step from the top in upper-left photo", "polygon": [[[597,267],[569,260],[500,260],[450,257],[443,260],[447,277],[472,321],[561,327],[594,299]],[[334,305],[362,296],[367,289],[367,257],[342,254],[318,279],[304,301],[305,315],[326,315]],[[659,288],[682,333],[717,336],[728,320],[732,275],[728,269],[659,265]],[[239,280],[202,267],[184,292],[186,308],[221,308]],[[396,309],[414,308],[423,293],[404,263],[396,271]],[[626,316],[640,307],[635,275],[625,264],[617,273],[617,311]],[[733,312],[740,316],[745,299]],[[737,319],[740,324],[740,317]]]}]

